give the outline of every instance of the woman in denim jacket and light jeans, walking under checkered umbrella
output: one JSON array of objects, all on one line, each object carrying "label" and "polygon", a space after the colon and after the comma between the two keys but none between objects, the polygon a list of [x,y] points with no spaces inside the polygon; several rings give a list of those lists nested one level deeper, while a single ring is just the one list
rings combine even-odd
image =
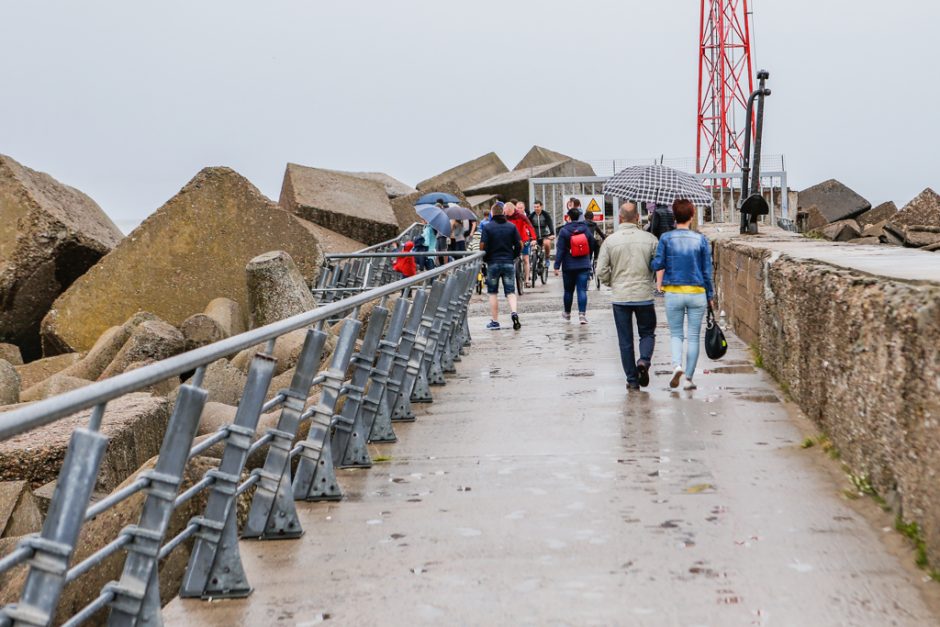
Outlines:
[{"label": "woman in denim jacket and light jeans, walking under checkered umbrella", "polygon": [[[672,205],[676,229],[663,233],[650,267],[656,272],[656,285],[666,295],[666,318],[672,344],[672,381],[678,387],[685,374],[686,390],[694,390],[692,377],[698,362],[702,318],[709,305],[715,305],[712,283],[712,253],[708,239],[691,229],[695,205],[677,200]],[[688,317],[686,332],[685,319]],[[685,368],[682,367],[682,341],[688,336]]]}]

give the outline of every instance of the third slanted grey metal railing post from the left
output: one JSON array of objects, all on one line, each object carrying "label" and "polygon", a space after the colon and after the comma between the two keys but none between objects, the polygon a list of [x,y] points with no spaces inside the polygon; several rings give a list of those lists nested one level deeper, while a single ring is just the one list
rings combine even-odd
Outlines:
[{"label": "third slanted grey metal railing post from the left", "polygon": [[251,594],[241,569],[237,533],[234,542],[232,535],[241,473],[276,365],[277,360],[263,353],[252,360],[235,420],[228,426],[222,460],[218,469],[207,473],[214,482],[209,489],[205,513],[193,519],[200,530],[196,532],[196,542],[183,576],[181,597],[233,598]]}]

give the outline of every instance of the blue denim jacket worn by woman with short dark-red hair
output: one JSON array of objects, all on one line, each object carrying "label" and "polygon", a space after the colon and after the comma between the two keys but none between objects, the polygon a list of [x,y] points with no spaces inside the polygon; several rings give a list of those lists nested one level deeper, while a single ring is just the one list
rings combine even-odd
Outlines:
[{"label": "blue denim jacket worn by woman with short dark-red hair", "polygon": [[689,229],[663,233],[650,267],[665,270],[663,285],[704,287],[708,300],[715,297],[712,284],[712,249],[708,239]]}]

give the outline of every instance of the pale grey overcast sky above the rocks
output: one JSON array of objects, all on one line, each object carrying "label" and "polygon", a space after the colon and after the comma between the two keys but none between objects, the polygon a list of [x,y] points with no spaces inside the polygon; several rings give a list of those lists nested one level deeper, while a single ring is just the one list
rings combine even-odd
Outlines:
[{"label": "pale grey overcast sky above the rocks", "polygon": [[[940,3],[754,0],[765,154],[877,204],[940,189]],[[693,157],[698,0],[0,4],[0,152],[142,219],[200,168],[407,183],[532,144]],[[755,68],[756,69],[756,68]]]}]

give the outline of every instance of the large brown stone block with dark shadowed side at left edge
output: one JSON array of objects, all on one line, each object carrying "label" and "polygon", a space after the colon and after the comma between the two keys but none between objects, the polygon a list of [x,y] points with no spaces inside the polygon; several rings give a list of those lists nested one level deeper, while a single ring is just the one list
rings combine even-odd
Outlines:
[{"label": "large brown stone block with dark shadowed side at left edge", "polygon": [[40,357],[53,301],[121,238],[91,198],[0,155],[0,341]]}]

